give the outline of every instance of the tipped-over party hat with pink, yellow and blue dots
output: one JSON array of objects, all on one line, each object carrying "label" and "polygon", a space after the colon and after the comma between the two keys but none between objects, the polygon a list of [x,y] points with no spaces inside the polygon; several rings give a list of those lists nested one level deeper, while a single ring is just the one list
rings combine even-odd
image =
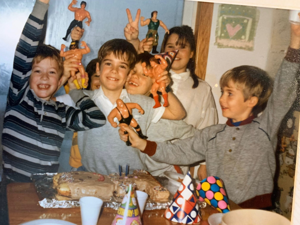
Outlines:
[{"label": "tipped-over party hat with pink, yellow and blue dots", "polygon": [[196,187],[196,196],[199,201],[205,201],[219,212],[226,213],[230,211],[224,183],[218,177],[210,176],[200,181]]}]

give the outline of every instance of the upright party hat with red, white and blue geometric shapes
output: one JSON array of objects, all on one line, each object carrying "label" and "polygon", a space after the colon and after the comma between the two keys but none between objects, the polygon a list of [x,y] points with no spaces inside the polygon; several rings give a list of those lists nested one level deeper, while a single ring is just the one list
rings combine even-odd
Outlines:
[{"label": "upright party hat with red, white and blue geometric shapes", "polygon": [[177,223],[196,224],[201,220],[190,171],[184,177],[164,217]]}]

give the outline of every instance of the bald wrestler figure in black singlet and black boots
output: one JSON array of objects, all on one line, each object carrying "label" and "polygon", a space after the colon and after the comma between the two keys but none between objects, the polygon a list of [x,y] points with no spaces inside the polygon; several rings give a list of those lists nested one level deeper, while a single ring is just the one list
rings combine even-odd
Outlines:
[{"label": "bald wrestler figure in black singlet and black boots", "polygon": [[[142,107],[137,103],[124,103],[121,99],[117,99],[116,104],[117,107],[107,116],[107,121],[116,128],[118,125],[113,121],[116,117],[120,124],[130,125],[137,131],[140,138],[147,139],[148,137],[143,135],[140,125],[137,124],[137,121],[132,116],[132,109],[138,109],[139,113],[144,114]],[[127,134],[127,131],[124,131],[124,134]],[[126,145],[131,146],[129,139],[126,141]]]}]

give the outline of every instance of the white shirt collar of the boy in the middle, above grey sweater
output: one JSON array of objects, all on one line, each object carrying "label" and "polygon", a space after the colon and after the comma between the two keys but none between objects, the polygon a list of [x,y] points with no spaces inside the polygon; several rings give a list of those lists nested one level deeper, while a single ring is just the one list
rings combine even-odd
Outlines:
[{"label": "white shirt collar of the boy in the middle, above grey sweater", "polygon": [[[128,96],[128,93],[126,89],[122,89],[121,95],[119,97],[122,101],[125,103],[130,102],[130,98]],[[104,115],[107,117],[108,114],[117,106],[116,103],[112,104],[110,100],[104,95],[104,92],[102,90],[102,87],[100,86],[99,89],[96,89],[94,91],[94,96],[92,100],[95,102],[95,104],[99,107],[99,109],[104,113]],[[116,119],[116,118],[115,118]]]}]

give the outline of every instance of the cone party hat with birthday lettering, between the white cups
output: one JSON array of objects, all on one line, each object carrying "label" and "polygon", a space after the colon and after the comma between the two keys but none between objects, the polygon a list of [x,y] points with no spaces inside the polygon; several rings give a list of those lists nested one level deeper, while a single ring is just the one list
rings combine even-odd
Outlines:
[{"label": "cone party hat with birthday lettering, between the white cups", "polygon": [[137,199],[134,197],[134,190],[129,184],[126,194],[119,207],[112,225],[142,225]]}]

